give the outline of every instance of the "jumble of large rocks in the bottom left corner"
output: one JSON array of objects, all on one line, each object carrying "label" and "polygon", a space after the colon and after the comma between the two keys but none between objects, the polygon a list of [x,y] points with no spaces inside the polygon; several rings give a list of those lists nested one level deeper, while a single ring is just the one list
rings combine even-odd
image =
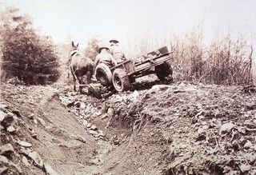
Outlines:
[{"label": "jumble of large rocks in the bottom left corner", "polygon": [[[33,166],[36,166],[46,174],[58,174],[34,151],[30,142],[20,140],[20,138],[23,139],[22,133],[28,128],[22,121],[22,115],[19,111],[11,109],[4,103],[0,103],[0,108],[0,174],[24,174],[22,166],[30,169],[31,173],[38,171],[33,169]],[[35,133],[29,131],[30,136],[37,139]]]}]

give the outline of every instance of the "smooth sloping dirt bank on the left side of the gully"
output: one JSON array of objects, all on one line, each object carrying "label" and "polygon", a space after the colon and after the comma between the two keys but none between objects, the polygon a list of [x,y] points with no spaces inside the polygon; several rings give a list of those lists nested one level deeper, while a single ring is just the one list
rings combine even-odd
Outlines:
[{"label": "smooth sloping dirt bank on the left side of the gully", "polygon": [[[74,114],[60,103],[58,89],[5,85],[1,99],[2,112],[16,117],[10,123],[14,132],[8,132],[5,126],[1,129],[1,145],[14,147],[14,153],[8,155],[9,161],[3,165],[9,168],[8,174],[72,174],[75,169],[91,164],[90,157],[98,145],[78,125]],[[18,141],[26,141],[30,146],[18,145]],[[34,152],[40,158],[29,156]]]}]

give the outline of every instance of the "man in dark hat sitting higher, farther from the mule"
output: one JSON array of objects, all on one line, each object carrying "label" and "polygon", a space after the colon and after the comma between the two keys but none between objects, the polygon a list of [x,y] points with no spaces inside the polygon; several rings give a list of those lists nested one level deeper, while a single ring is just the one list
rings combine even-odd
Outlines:
[{"label": "man in dark hat sitting higher, farther from the mule", "polygon": [[116,59],[116,61],[118,63],[126,60],[125,55],[122,54],[122,52],[118,46],[118,40],[116,40],[116,39],[110,40],[110,54],[113,55],[114,59]]}]

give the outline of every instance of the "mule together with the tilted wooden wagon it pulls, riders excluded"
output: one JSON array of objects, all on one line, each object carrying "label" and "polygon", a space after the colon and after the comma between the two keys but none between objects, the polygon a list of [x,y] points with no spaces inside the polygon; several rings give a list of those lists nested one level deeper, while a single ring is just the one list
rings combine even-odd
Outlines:
[{"label": "mule together with the tilted wooden wagon it pulls, riders excluded", "polygon": [[[164,80],[168,76],[172,76],[173,71],[170,64],[170,52],[167,47],[143,55],[136,60],[127,60],[119,63],[117,66],[108,67],[106,64],[100,63],[95,68],[95,77],[98,81],[90,83],[94,62],[90,58],[83,57],[75,46],[70,53],[70,70],[74,77],[74,90],[76,90],[75,82],[78,82],[80,91],[86,86],[88,93],[94,97],[101,98],[104,89],[115,89],[118,92],[130,89],[136,78],[149,74],[156,74],[160,80]],[[86,75],[87,85],[82,85],[82,77]],[[107,88],[105,88],[107,87]]]}]

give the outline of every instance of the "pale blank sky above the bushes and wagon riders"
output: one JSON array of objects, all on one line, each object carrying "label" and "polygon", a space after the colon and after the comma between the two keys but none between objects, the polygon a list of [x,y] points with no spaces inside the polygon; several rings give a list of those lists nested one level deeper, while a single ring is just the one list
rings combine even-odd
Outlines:
[{"label": "pale blank sky above the bushes and wagon riders", "polygon": [[[98,36],[126,45],[150,34],[151,39],[186,34],[202,26],[207,41],[222,32],[256,38],[254,0],[0,0],[33,18],[34,26],[54,42],[68,38],[86,46]],[[1,5],[1,4],[0,4]],[[161,41],[160,41],[161,42]]]}]

